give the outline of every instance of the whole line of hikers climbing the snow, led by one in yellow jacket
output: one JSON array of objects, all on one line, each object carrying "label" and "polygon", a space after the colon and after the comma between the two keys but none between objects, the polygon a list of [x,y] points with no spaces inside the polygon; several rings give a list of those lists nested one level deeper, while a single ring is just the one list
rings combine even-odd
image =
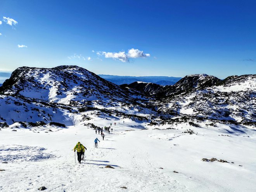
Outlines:
[{"label": "whole line of hikers climbing the snow, led by one in yellow jacket", "polygon": [[[116,123],[114,123],[114,125],[116,125]],[[109,134],[110,134],[110,130],[111,130],[111,132],[113,131],[113,128],[111,128],[111,126],[112,126],[112,123],[110,123],[110,126],[109,127],[104,127],[104,130],[106,131],[106,132],[108,132]],[[111,129],[110,129],[111,128]],[[104,133],[103,133],[103,127],[102,128],[95,128],[95,133],[97,134],[97,131],[99,132],[99,134],[100,134],[100,132],[101,132],[101,137],[102,137],[102,139],[104,140],[104,137],[105,137],[105,135],[104,135]],[[98,141],[100,142],[100,140],[98,139],[98,138],[95,138],[95,140],[94,140],[94,144],[95,144],[95,147],[96,148],[98,148]],[[86,149],[86,147],[85,146],[83,146],[80,142],[78,142],[77,144],[76,144],[76,146],[74,147],[74,152],[76,152],[77,153],[77,160],[78,160],[78,163],[81,163],[81,160],[83,160],[84,159],[84,155],[85,155],[85,150],[87,150]],[[82,157],[83,156],[83,157]]]}]

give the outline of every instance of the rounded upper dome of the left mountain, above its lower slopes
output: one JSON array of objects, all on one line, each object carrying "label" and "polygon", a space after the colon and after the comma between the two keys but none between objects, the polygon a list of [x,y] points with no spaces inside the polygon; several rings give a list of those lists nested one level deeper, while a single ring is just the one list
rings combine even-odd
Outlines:
[{"label": "rounded upper dome of the left mountain, above its lower slopes", "polygon": [[19,67],[3,83],[0,92],[62,104],[127,96],[119,86],[78,66]]}]

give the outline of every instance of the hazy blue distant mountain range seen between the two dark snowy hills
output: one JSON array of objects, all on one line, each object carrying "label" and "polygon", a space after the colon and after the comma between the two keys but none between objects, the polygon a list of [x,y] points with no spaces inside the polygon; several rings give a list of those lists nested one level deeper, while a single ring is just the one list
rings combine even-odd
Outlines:
[{"label": "hazy blue distant mountain range seen between the two dark snowy hills", "polygon": [[156,83],[158,85],[174,85],[181,80],[181,77],[168,77],[168,76],[117,76],[117,75],[105,75],[99,74],[99,76],[116,85],[130,84],[135,81],[143,81],[145,83]]}]

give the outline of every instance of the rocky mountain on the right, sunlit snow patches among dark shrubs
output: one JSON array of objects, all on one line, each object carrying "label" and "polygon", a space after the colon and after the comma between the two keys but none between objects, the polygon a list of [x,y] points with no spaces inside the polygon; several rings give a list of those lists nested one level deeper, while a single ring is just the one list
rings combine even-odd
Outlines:
[{"label": "rocky mountain on the right, sunlit snow patches among dark shrubs", "polygon": [[207,75],[186,76],[173,86],[165,86],[157,97],[161,101],[159,111],[175,116],[161,123],[256,125],[256,75],[230,76],[225,80]]}]

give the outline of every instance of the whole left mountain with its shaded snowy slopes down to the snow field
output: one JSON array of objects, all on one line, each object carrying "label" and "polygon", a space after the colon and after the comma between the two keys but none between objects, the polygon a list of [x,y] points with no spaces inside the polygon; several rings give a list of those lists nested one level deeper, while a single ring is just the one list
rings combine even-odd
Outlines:
[{"label": "whole left mountain with its shaded snowy slopes down to the snow field", "polygon": [[76,125],[90,119],[86,111],[138,119],[154,114],[140,93],[123,90],[77,66],[20,67],[3,83],[0,93],[0,119],[8,124],[53,121]]}]

